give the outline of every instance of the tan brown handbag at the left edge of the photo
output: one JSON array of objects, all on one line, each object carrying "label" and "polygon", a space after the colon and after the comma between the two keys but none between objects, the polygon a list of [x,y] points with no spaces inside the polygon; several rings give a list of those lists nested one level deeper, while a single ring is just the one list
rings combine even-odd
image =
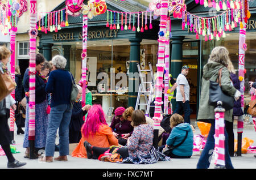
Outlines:
[{"label": "tan brown handbag at the left edge of the photo", "polygon": [[14,91],[15,87],[13,77],[9,73],[2,74],[0,71],[0,101]]}]

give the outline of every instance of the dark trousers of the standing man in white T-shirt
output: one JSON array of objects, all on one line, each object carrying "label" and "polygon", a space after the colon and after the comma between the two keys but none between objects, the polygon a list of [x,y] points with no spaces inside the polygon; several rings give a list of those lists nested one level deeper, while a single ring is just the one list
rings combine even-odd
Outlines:
[{"label": "dark trousers of the standing man in white T-shirt", "polygon": [[185,101],[185,103],[183,103],[182,101],[177,101],[174,114],[177,113],[177,114],[182,115],[183,111],[184,111],[184,122],[187,122],[190,125],[191,110],[190,110],[190,106],[189,106],[189,101]]}]

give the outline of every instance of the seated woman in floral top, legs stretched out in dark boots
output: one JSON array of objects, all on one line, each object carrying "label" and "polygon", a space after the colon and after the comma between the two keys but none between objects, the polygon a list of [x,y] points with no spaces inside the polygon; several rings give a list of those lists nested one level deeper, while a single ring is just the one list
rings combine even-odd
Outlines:
[{"label": "seated woman in floral top, legs stretched out in dark boots", "polygon": [[84,147],[88,158],[97,159],[108,150],[119,153],[123,159],[129,156],[135,158],[137,156],[147,155],[153,145],[154,128],[146,123],[145,115],[141,110],[134,110],[131,115],[131,125],[134,127],[134,131],[127,139],[127,146],[125,147],[102,148],[85,141]]}]

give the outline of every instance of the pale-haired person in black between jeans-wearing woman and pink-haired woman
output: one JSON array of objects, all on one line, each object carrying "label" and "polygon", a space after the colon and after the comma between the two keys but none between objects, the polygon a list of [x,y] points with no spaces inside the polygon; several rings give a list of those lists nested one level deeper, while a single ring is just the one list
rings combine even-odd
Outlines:
[{"label": "pale-haired person in black between jeans-wearing woman and pink-haired woman", "polygon": [[82,87],[76,85],[79,89],[77,94],[76,102],[73,103],[71,121],[69,123],[69,143],[79,143],[82,137],[81,127],[84,124],[84,115],[88,112],[90,105],[87,104],[82,107],[81,101],[79,100],[82,96]]}]

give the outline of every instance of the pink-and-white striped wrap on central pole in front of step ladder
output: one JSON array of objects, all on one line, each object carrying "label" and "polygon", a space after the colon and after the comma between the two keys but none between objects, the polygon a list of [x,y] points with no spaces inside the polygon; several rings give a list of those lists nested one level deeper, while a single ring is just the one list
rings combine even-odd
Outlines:
[{"label": "pink-and-white striped wrap on central pole in front of step ladder", "polygon": [[167,32],[167,16],[168,16],[168,1],[162,0],[161,1],[161,8],[160,8],[160,31],[159,31],[159,46],[158,46],[158,63],[157,73],[156,73],[156,85],[155,85],[155,113],[154,117],[154,128],[159,129],[160,122],[163,119],[161,114],[161,105],[163,104],[162,101],[162,91],[163,91],[163,72],[164,72],[164,53],[165,53],[165,46],[166,46],[166,32]]}]

